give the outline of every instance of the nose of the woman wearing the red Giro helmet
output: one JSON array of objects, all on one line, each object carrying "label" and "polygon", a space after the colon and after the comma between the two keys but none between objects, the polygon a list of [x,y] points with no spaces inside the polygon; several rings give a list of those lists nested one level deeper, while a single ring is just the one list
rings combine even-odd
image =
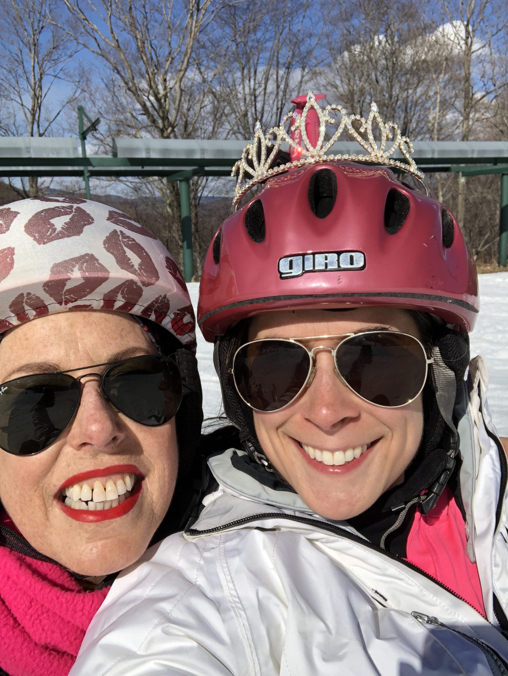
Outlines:
[{"label": "nose of the woman wearing the red Giro helmet", "polygon": [[301,413],[319,429],[337,432],[361,412],[361,400],[338,378],[329,350],[315,353],[315,375],[302,397]]}]

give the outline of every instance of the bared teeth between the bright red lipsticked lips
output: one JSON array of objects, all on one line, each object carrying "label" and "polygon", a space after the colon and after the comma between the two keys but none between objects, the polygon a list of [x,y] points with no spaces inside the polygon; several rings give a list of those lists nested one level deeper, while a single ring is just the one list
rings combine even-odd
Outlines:
[{"label": "bared teeth between the bright red lipsticked lips", "polygon": [[93,477],[62,488],[59,499],[74,510],[109,510],[130,498],[139,481],[143,477],[131,473]]}]

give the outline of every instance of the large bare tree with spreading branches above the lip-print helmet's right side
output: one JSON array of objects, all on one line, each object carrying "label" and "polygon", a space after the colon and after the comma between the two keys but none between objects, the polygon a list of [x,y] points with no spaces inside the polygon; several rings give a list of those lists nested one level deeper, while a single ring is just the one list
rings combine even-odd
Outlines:
[{"label": "large bare tree with spreading branches above the lip-print helmet's right side", "polygon": [[[216,134],[221,109],[212,89],[225,49],[213,22],[227,5],[225,0],[64,0],[64,4],[68,35],[101,64],[103,87],[93,102],[108,136],[170,139]],[[193,180],[194,208],[201,186],[202,180]],[[179,259],[177,185],[150,179],[131,182],[129,189],[145,195],[154,210],[147,225]]]}]

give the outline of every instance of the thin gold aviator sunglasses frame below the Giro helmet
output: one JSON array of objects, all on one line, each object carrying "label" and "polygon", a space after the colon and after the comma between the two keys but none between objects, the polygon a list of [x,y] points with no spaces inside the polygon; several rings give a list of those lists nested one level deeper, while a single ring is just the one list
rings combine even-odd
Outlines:
[{"label": "thin gold aviator sunglasses frame below the Giro helmet", "polygon": [[[423,357],[425,358],[425,377],[423,378],[423,383],[421,384],[421,387],[420,387],[418,393],[412,399],[410,399],[409,401],[405,402],[404,404],[398,404],[398,406],[384,406],[383,404],[375,404],[374,402],[371,402],[368,399],[365,399],[365,397],[362,397],[361,394],[356,392],[356,390],[354,390],[344,380],[344,377],[341,375],[340,371],[337,368],[337,361],[336,361],[337,350],[339,349],[339,347],[344,345],[344,343],[346,343],[348,341],[348,339],[357,338],[357,337],[363,336],[363,335],[373,335],[373,334],[379,334],[379,333],[390,333],[390,334],[395,333],[396,335],[407,336],[407,337],[413,339],[421,347],[421,351],[423,352]],[[301,341],[309,341],[309,340],[325,340],[325,339],[331,339],[331,338],[344,338],[344,340],[340,341],[340,343],[337,345],[337,347],[329,347],[329,345],[316,345],[316,347],[313,347],[312,349],[308,349],[308,347],[306,347],[305,345],[302,345],[302,342],[301,342]],[[263,411],[263,410],[260,410],[259,408],[255,408],[254,406],[252,406],[252,404],[249,404],[249,402],[246,402],[246,400],[241,395],[241,393],[240,393],[240,391],[237,387],[235,374],[233,372],[235,359],[236,359],[236,356],[239,353],[239,351],[241,349],[243,349],[244,347],[246,347],[247,345],[252,345],[253,343],[262,343],[264,341],[279,341],[281,343],[296,343],[296,345],[300,345],[300,347],[303,347],[303,349],[307,352],[308,356],[310,357],[310,365],[309,365],[309,368],[308,368],[308,373],[307,373],[306,379],[305,379],[302,387],[300,387],[300,389],[298,390],[298,393],[296,393],[296,395],[294,395],[294,397],[292,398],[292,400],[290,402],[287,402],[287,404],[284,404],[284,406],[281,406],[281,408],[275,408],[273,411]],[[337,335],[306,336],[306,337],[303,337],[303,338],[257,338],[256,340],[248,341],[247,343],[243,343],[243,345],[239,346],[239,348],[236,350],[235,354],[233,355],[233,366],[231,366],[231,368],[229,368],[229,373],[233,376],[233,383],[235,383],[235,389],[236,389],[239,397],[241,398],[242,402],[244,402],[244,404],[246,404],[249,408],[252,408],[252,410],[257,411],[258,413],[275,413],[277,411],[283,410],[284,408],[287,408],[287,406],[290,406],[290,404],[293,404],[293,402],[296,401],[298,399],[298,397],[300,397],[300,395],[302,394],[302,391],[304,391],[304,389],[310,387],[310,385],[312,384],[314,377],[316,375],[316,371],[317,371],[317,364],[316,364],[316,360],[315,360],[315,352],[318,352],[319,350],[323,350],[323,349],[328,350],[328,352],[331,353],[331,356],[333,356],[333,370],[334,370],[336,376],[338,377],[338,379],[340,380],[340,382],[343,385],[346,385],[346,387],[348,389],[350,389],[350,391],[352,391],[352,393],[354,393],[357,397],[360,397],[361,400],[363,400],[364,402],[367,402],[367,404],[372,404],[372,406],[379,406],[379,408],[402,408],[402,406],[407,406],[408,404],[411,404],[411,402],[414,402],[415,399],[417,399],[419,397],[419,395],[421,394],[421,392],[423,391],[423,387],[425,387],[425,383],[427,382],[427,377],[429,375],[429,364],[434,363],[434,359],[432,359],[432,357],[427,356],[427,352],[425,350],[425,347],[423,346],[423,343],[417,337],[411,335],[411,333],[404,333],[403,331],[389,331],[389,330],[387,330],[387,331],[361,331],[359,333],[338,333]]]}]

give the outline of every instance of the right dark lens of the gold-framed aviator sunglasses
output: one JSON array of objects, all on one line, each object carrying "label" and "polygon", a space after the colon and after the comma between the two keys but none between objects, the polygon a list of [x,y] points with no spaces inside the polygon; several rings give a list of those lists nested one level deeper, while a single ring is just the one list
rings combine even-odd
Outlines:
[{"label": "right dark lens of the gold-framed aviator sunglasses", "polygon": [[351,389],[378,406],[403,406],[415,399],[427,369],[419,342],[390,331],[346,339],[336,362]]}]

